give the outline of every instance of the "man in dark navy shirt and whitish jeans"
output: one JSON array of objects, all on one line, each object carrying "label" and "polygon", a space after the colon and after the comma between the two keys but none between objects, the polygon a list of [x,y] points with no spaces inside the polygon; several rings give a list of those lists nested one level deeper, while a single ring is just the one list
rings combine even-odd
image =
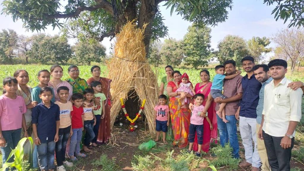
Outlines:
[{"label": "man in dark navy shirt and whitish jeans", "polygon": [[[240,134],[245,149],[246,161],[240,163],[241,167],[252,165],[251,171],[258,171],[261,166],[261,159],[257,152],[257,104],[259,102],[259,92],[261,83],[257,81],[253,74],[254,58],[247,56],[242,60],[242,67],[247,73],[242,78],[243,96],[240,107],[236,113],[237,120],[240,120]],[[254,151],[252,141],[254,141]]]}]

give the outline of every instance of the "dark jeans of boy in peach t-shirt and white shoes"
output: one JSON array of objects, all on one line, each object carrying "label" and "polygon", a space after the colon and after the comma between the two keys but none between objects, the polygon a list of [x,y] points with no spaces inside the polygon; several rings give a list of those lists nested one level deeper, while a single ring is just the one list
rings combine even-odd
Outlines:
[{"label": "dark jeans of boy in peach t-shirt and white shoes", "polygon": [[67,140],[70,137],[71,126],[59,128],[59,140],[56,142],[55,152],[57,166],[62,166],[65,161],[65,149],[67,147]]}]

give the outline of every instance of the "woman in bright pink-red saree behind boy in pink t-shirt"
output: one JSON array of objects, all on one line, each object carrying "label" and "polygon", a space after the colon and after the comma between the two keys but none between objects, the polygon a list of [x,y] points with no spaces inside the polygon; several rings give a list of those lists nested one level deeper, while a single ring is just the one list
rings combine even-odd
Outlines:
[{"label": "woman in bright pink-red saree behind boy in pink t-shirt", "polygon": [[[208,117],[213,125],[213,130],[210,130],[210,125],[206,119],[203,122],[203,144],[202,151],[208,153],[210,142],[213,139],[217,138],[217,121],[216,121],[216,111],[214,110],[215,103],[213,102],[213,98],[210,94],[210,89],[212,82],[210,82],[210,75],[208,70],[202,70],[200,73],[200,78],[202,82],[199,82],[195,85],[194,91],[195,93],[202,93],[205,96],[203,106],[205,106],[203,112],[208,112]],[[190,104],[190,106],[193,106]],[[197,138],[195,136],[195,140],[193,143],[193,151],[198,150]]]}]

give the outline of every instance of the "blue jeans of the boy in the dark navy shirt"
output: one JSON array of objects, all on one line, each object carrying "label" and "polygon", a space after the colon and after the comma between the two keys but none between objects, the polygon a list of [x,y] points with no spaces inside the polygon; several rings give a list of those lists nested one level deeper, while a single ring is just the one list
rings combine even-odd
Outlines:
[{"label": "blue jeans of the boy in the dark navy shirt", "polygon": [[41,170],[55,169],[55,145],[54,141],[37,145],[38,163]]}]

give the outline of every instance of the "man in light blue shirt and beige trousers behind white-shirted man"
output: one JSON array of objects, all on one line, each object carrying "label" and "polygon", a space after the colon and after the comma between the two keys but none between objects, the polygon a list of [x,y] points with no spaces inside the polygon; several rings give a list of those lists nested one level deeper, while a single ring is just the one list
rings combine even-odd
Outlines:
[{"label": "man in light blue shirt and beige trousers behind white-shirted man", "polygon": [[[257,131],[261,128],[261,122],[262,122],[262,112],[263,112],[263,105],[264,105],[264,89],[265,85],[267,85],[269,82],[271,82],[272,78],[269,76],[269,67],[268,65],[261,64],[261,65],[255,65],[253,67],[253,73],[257,81],[262,83],[262,87],[260,90],[260,99],[259,103],[257,105]],[[270,171],[270,165],[268,162],[268,157],[266,153],[266,148],[264,144],[264,140],[261,140],[257,138],[257,150],[259,152],[259,155],[261,157],[262,162],[262,171]]]}]

